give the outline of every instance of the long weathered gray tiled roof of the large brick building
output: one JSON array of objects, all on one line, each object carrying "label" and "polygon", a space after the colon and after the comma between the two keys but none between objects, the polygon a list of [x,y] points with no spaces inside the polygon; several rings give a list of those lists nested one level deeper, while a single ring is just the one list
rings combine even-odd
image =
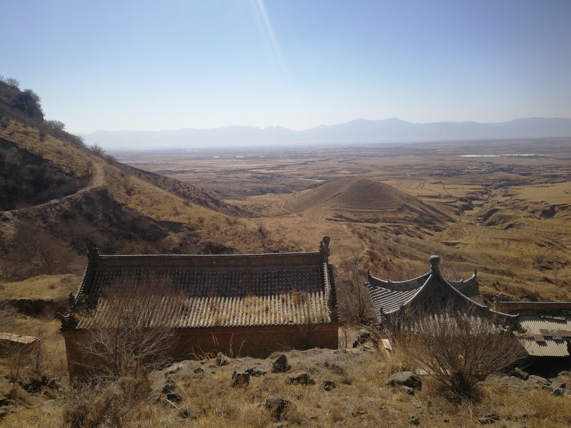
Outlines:
[{"label": "long weathered gray tiled roof of the large brick building", "polygon": [[[327,251],[327,248],[325,248]],[[149,272],[179,290],[165,301],[178,328],[329,324],[337,322],[333,271],[327,253],[222,256],[99,256],[90,253],[76,302],[91,308],[67,328],[90,328],[106,308],[102,289],[124,275]],[[168,300],[168,298],[167,298]],[[174,307],[176,306],[176,307]],[[79,306],[75,308],[79,310]]]}]

